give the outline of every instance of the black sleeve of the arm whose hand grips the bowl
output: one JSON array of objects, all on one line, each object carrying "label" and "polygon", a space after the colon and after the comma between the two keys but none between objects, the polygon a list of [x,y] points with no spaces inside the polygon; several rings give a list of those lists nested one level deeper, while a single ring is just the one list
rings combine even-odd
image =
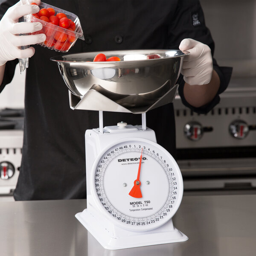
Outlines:
[{"label": "black sleeve of the arm whose hand grips the bowl", "polygon": [[[209,29],[205,25],[204,13],[199,1],[178,1],[175,12],[175,19],[172,19],[172,22],[169,26],[169,44],[172,47],[175,46],[175,49],[178,49],[180,42],[184,38],[192,38],[203,44],[207,44],[210,47],[213,56],[215,44]],[[227,88],[232,74],[232,67],[219,67],[217,61],[213,58],[213,68],[218,73],[220,78],[220,88],[214,99],[212,99],[212,101],[207,105],[204,105],[200,108],[193,107],[184,98],[183,88],[185,82],[182,75],[177,81],[177,83],[180,84],[179,94],[183,104],[186,107],[192,109],[194,112],[209,112],[212,108],[215,107],[215,105],[219,103],[219,94]]]}]

